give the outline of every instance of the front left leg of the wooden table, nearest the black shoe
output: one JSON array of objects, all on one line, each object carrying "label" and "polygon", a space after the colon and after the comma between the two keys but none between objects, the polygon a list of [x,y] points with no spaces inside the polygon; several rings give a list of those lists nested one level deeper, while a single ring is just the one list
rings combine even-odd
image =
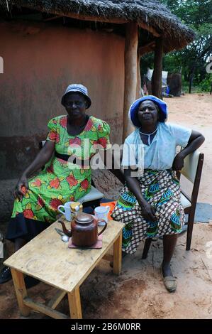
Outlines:
[{"label": "front left leg of the wooden table, nearest the black shoe", "polygon": [[13,276],[13,284],[16,290],[18,306],[20,308],[21,314],[27,317],[30,313],[30,308],[28,308],[28,306],[26,306],[23,302],[23,298],[27,296],[23,274],[13,268],[11,268],[11,274]]}]

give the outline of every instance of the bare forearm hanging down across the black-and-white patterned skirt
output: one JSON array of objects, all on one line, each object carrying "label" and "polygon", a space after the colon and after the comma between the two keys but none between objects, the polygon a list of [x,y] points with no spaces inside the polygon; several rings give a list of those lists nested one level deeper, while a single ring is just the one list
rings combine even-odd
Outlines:
[{"label": "bare forearm hanging down across the black-and-white patterned skirt", "polygon": [[[135,170],[133,171],[135,172]],[[128,189],[138,200],[138,204],[140,205],[140,209],[145,220],[156,221],[157,217],[155,216],[155,209],[147,202],[147,200],[143,198],[138,179],[131,176],[133,171],[130,167],[128,169],[124,169],[124,176]]]}]

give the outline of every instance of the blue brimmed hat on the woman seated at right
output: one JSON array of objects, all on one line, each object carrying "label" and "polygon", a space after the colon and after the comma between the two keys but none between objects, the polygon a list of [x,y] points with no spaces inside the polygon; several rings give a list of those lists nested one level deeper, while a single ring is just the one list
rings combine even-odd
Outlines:
[{"label": "blue brimmed hat on the woman seated at right", "polygon": [[150,101],[157,104],[157,107],[159,108],[160,117],[159,121],[164,122],[167,120],[168,116],[168,110],[167,110],[167,104],[162,101],[162,99],[158,99],[158,97],[155,97],[153,95],[146,95],[143,97],[140,97],[140,99],[136,99],[135,102],[130,107],[129,110],[129,119],[133,122],[133,125],[140,127],[140,122],[138,120],[138,107],[141,102],[145,101],[146,99],[150,99]]}]

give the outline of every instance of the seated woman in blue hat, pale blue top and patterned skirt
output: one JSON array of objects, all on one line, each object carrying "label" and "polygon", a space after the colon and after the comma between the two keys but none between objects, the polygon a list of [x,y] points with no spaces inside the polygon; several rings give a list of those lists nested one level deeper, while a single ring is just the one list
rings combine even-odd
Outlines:
[{"label": "seated woman in blue hat, pale blue top and patterned skirt", "polygon": [[[122,165],[126,183],[112,217],[125,224],[125,253],[136,252],[141,239],[163,236],[162,278],[167,290],[175,291],[170,262],[184,225],[176,171],[183,168],[184,158],[201,146],[204,137],[166,123],[167,104],[152,95],[136,100],[129,117],[135,131],[125,139]],[[184,149],[176,155],[177,146]]]}]

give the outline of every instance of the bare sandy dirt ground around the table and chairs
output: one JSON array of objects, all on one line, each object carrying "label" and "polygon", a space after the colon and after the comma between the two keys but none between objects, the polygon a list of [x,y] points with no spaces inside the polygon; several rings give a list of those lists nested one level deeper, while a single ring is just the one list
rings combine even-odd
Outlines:
[{"label": "bare sandy dirt ground around the table and chairs", "polygon": [[[212,204],[212,151],[210,95],[185,95],[165,99],[169,107],[169,122],[201,131],[206,141],[199,202]],[[184,183],[189,188],[189,184]],[[111,190],[111,195],[114,191]],[[186,233],[179,236],[172,261],[177,278],[177,291],[168,293],[160,276],[162,240],[152,242],[146,260],[142,260],[143,243],[135,255],[123,259],[122,273],[113,275],[108,262],[101,261],[80,288],[83,317],[91,318],[212,318],[212,225],[194,225],[191,250],[185,250]],[[207,247],[211,242],[211,248]],[[49,301],[55,289],[40,283],[28,290],[40,303]],[[68,314],[65,297],[57,307]],[[0,318],[23,318],[16,302],[13,283],[0,286]],[[29,318],[48,318],[32,312]]]}]

